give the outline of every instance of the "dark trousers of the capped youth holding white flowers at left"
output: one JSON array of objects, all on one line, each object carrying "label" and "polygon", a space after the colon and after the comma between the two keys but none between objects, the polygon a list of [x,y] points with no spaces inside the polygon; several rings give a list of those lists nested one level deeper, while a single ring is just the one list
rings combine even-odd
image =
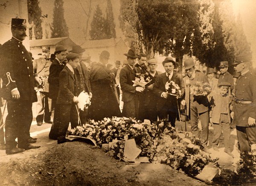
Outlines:
[{"label": "dark trousers of the capped youth holding white flowers at left", "polygon": [[69,123],[71,128],[76,128],[79,125],[76,105],[57,104],[54,110],[53,124],[49,133],[49,138],[57,139],[60,136],[65,136]]}]

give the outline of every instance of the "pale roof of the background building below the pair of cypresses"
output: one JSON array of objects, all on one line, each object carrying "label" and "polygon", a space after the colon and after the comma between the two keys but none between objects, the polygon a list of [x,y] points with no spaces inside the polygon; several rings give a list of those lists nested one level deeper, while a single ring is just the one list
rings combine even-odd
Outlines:
[{"label": "pale roof of the background building below the pair of cypresses", "polygon": [[110,38],[101,40],[87,40],[81,44],[81,47],[83,49],[114,47],[120,40],[122,39]]}]

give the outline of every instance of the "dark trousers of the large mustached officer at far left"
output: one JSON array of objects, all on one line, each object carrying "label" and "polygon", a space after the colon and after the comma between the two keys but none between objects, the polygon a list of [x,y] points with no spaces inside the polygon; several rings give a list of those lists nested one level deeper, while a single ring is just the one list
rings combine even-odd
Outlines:
[{"label": "dark trousers of the large mustached officer at far left", "polygon": [[18,138],[18,146],[29,145],[29,130],[32,123],[32,102],[8,101],[8,115],[6,116],[6,150],[16,146],[15,139]]}]

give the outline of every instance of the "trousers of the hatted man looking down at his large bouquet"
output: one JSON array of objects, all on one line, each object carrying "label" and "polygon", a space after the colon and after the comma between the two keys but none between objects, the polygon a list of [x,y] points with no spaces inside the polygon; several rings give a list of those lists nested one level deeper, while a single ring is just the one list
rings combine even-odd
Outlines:
[{"label": "trousers of the hatted man looking down at his large bouquet", "polygon": [[199,130],[198,130],[198,116],[202,125],[202,133],[201,139],[203,140],[203,144],[207,145],[208,135],[209,135],[209,112],[198,113],[198,110],[194,106],[190,106],[190,124],[191,131],[195,137],[199,138]]}]

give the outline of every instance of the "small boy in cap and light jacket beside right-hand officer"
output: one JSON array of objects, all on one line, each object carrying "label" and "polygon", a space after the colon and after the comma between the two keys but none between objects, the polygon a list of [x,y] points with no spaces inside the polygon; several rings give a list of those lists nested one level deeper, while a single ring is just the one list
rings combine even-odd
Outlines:
[{"label": "small boy in cap and light jacket beside right-hand officer", "polygon": [[219,139],[223,131],[224,134],[224,152],[231,154],[230,146],[230,103],[232,96],[229,95],[229,88],[231,84],[228,82],[221,82],[218,84],[219,92],[212,96],[210,101],[212,105],[212,123],[214,134],[212,139],[212,146],[215,151],[218,150]]}]

